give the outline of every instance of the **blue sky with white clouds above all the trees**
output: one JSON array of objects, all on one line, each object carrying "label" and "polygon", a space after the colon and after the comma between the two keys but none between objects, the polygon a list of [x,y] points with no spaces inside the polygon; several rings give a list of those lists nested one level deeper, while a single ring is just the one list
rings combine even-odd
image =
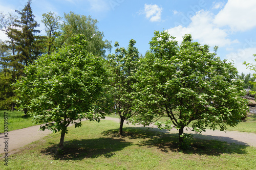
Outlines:
[{"label": "blue sky with white clouds above all the trees", "polygon": [[[27,0],[0,0],[0,11],[15,13],[26,4]],[[218,45],[217,55],[232,61],[240,74],[251,72],[244,61],[256,63],[252,56],[256,54],[255,0],[32,0],[32,10],[41,34],[43,13],[51,11],[63,17],[73,11],[97,19],[99,30],[112,45],[118,41],[127,47],[135,39],[143,55],[154,31],[167,30],[179,42],[184,34],[191,34],[194,41],[210,45],[211,50]],[[0,39],[6,40],[3,33]]]}]

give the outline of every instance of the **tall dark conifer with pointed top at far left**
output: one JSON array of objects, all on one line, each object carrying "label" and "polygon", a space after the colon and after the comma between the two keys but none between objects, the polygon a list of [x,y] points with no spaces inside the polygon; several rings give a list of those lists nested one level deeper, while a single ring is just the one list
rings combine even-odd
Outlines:
[{"label": "tall dark conifer with pointed top at far left", "polygon": [[[36,35],[40,31],[35,29],[39,25],[34,20],[35,16],[32,13],[31,0],[28,1],[22,11],[16,10],[15,12],[18,13],[19,17],[11,14],[8,17],[4,17],[7,15],[1,14],[1,25],[4,26],[4,31],[10,39],[6,41],[5,48],[12,51],[11,55],[6,55],[2,58],[5,61],[6,71],[11,77],[10,84],[15,83],[19,77],[24,76],[24,67],[33,63],[42,53],[43,48],[42,37]],[[13,98],[13,89],[9,89],[11,90],[9,91],[9,98]],[[14,103],[12,102],[11,105],[13,110]]]}]

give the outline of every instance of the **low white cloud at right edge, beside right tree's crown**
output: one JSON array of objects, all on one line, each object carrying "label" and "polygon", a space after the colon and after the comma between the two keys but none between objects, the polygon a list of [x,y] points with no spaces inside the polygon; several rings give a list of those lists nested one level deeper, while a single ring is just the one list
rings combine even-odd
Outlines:
[{"label": "low white cloud at right edge, beside right tree's crown", "polygon": [[239,74],[242,72],[244,74],[254,73],[250,69],[247,69],[243,62],[255,64],[255,57],[253,54],[256,53],[256,48],[245,48],[239,49],[236,53],[229,53],[226,55],[226,59],[233,63],[237,67]]}]

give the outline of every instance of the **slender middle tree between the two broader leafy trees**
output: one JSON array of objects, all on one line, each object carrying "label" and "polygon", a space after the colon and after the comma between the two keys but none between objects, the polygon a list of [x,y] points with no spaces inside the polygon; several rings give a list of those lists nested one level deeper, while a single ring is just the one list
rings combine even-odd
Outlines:
[{"label": "slender middle tree between the two broader leafy trees", "polygon": [[131,118],[135,112],[132,110],[132,94],[135,91],[133,84],[138,68],[139,52],[134,46],[136,41],[131,39],[127,50],[119,48],[115,42],[116,54],[109,55],[111,94],[114,98],[115,111],[120,116],[119,135],[123,135],[123,123]]}]

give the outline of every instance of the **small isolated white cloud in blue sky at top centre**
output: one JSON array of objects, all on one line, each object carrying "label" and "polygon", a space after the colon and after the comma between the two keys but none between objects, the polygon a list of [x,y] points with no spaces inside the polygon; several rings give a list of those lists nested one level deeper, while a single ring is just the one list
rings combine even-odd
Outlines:
[{"label": "small isolated white cloud in blue sky at top centre", "polygon": [[161,21],[162,8],[158,5],[145,4],[144,13],[146,14],[146,18],[150,18],[152,22]]}]

